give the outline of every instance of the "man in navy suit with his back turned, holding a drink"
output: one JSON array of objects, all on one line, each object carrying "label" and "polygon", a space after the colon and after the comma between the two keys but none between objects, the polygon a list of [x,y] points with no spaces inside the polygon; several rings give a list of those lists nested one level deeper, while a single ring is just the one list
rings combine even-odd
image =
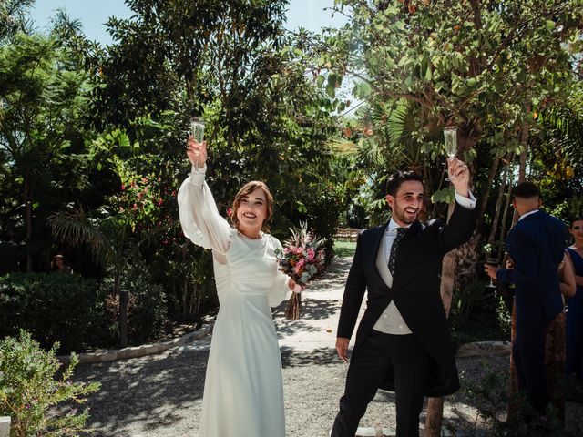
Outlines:
[{"label": "man in navy suit with his back turned, holding a drink", "polygon": [[517,365],[518,389],[538,413],[548,403],[545,381],[547,327],[563,308],[558,265],[567,247],[567,228],[539,210],[536,185],[522,182],[514,190],[513,206],[520,219],[508,233],[506,251],[513,269],[485,265],[486,273],[498,281],[515,284],[517,338],[512,354]]}]

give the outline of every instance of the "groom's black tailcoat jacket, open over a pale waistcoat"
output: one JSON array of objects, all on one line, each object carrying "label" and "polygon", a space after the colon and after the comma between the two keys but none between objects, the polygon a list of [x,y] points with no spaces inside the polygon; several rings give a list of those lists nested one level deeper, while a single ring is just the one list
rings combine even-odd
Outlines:
[{"label": "groom's black tailcoat jacket, open over a pale waistcoat", "polygon": [[[431,356],[430,375],[425,396],[445,396],[459,389],[444,305],[440,295],[442,262],[447,252],[472,236],[476,209],[455,204],[448,224],[439,219],[425,226],[415,221],[399,243],[393,286],[389,288],[376,269],[376,257],[388,223],[364,230],[358,237],[353,265],[346,280],[338,337],[351,338],[363,301],[368,300],[356,333],[353,359],[363,340],[373,329],[387,305],[394,303],[415,338]],[[393,368],[387,369],[381,387],[394,391]]]}]

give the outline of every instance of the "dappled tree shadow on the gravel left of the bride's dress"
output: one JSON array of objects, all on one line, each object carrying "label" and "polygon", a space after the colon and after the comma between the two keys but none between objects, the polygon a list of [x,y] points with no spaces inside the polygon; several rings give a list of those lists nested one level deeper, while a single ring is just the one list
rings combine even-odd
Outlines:
[{"label": "dappled tree shadow on the gravel left of the bride's dress", "polygon": [[98,429],[92,435],[129,435],[121,430],[135,422],[153,431],[182,421],[185,412],[191,415],[193,403],[202,398],[208,357],[205,350],[174,351],[77,366],[75,380],[101,382],[88,401],[89,424]]}]

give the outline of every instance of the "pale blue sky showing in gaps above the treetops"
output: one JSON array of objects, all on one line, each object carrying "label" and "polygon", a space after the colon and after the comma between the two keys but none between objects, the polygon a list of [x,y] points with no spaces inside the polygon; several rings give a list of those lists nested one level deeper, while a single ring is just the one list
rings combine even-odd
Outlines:
[{"label": "pale blue sky showing in gaps above the treetops", "polygon": [[[332,18],[332,12],[324,10],[333,4],[334,0],[290,0],[286,28],[295,30],[302,26],[318,31],[326,26],[343,25],[342,15],[336,14]],[[58,8],[64,9],[71,18],[81,21],[83,33],[88,39],[104,45],[112,42],[105,26],[107,19],[110,16],[127,18],[131,15],[123,0],[36,0],[31,10],[36,27],[46,30],[51,15]]]}]

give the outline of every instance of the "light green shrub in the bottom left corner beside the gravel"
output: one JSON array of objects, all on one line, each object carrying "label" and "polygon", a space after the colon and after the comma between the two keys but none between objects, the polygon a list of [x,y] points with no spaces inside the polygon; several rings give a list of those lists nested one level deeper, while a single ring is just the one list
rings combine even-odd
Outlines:
[{"label": "light green shrub in the bottom left corner beside the gravel", "polygon": [[[57,380],[61,364],[56,343],[50,351],[41,349],[30,333],[21,330],[18,339],[0,341],[0,415],[11,416],[11,437],[76,435],[85,431],[88,410],[77,413],[76,404],[99,390],[98,382],[70,382],[78,359],[75,354]],[[58,415],[47,414],[60,402]]]}]

